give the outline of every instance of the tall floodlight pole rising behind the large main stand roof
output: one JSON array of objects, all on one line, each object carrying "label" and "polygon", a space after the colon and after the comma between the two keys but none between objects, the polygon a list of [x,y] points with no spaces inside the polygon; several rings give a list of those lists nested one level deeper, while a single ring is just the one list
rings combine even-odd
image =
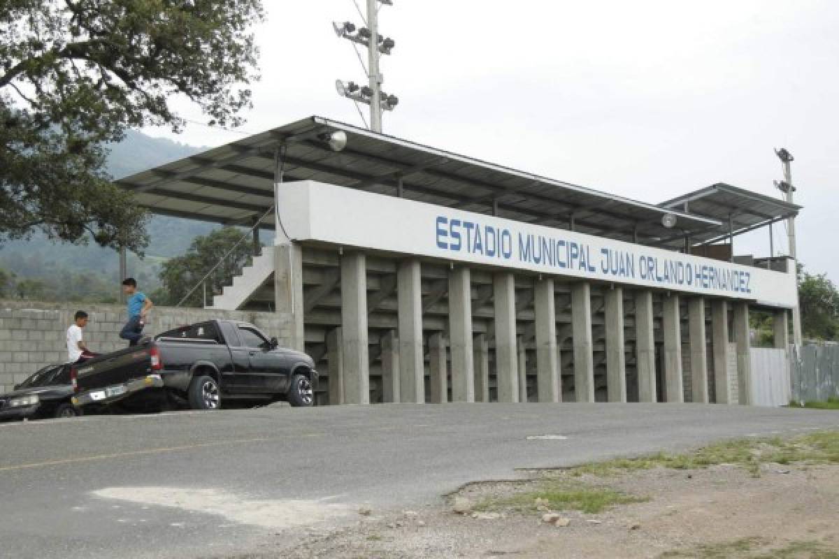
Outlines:
[{"label": "tall floodlight pole rising behind the large main stand roof", "polygon": [[[360,44],[367,49],[367,65],[364,65],[362,55],[356,50],[358,60],[367,74],[367,85],[361,87],[354,81],[344,82],[336,80],[335,87],[338,95],[347,97],[358,103],[370,106],[370,129],[373,132],[382,132],[383,111],[393,111],[399,103],[397,96],[388,95],[382,91],[384,77],[379,68],[379,59],[382,54],[390,54],[396,43],[389,37],[385,38],[378,33],[378,8],[379,4],[393,5],[392,0],[367,0],[367,18],[364,22],[366,27],[356,28],[352,22],[332,23],[332,28],[341,39],[347,39],[353,43]],[[359,113],[361,110],[359,109]],[[363,115],[362,115],[363,118]]]}]

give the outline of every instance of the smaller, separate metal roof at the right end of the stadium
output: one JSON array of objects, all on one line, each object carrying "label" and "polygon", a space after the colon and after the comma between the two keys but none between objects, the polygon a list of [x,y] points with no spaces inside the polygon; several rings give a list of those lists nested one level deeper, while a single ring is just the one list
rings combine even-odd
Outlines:
[{"label": "smaller, separate metal roof at the right end of the stadium", "polygon": [[739,235],[797,215],[801,209],[800,205],[789,204],[782,199],[725,183],[711,184],[704,189],[663,202],[660,206],[722,222],[724,233],[721,233],[719,228],[691,233],[691,239],[695,244],[697,241],[701,241],[701,244],[722,241],[722,238],[729,235],[729,220],[732,233]]}]

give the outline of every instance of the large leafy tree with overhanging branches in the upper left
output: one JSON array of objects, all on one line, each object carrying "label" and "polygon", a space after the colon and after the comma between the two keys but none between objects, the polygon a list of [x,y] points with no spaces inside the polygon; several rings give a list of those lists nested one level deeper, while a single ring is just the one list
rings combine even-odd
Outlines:
[{"label": "large leafy tree with overhanging branches in the upper left", "polygon": [[236,126],[255,75],[261,0],[0,3],[0,242],[148,244],[148,214],[104,171],[129,127],[184,124],[185,99]]}]

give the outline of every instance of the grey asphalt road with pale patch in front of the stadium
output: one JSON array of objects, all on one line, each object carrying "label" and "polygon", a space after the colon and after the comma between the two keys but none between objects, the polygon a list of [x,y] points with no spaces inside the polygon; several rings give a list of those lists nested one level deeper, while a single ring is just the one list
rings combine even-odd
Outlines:
[{"label": "grey asphalt road with pale patch in front of the stadium", "polygon": [[[690,404],[272,406],[6,423],[0,557],[264,551],[317,521],[357,520],[362,505],[420,507],[516,468],[823,428],[839,428],[839,414]],[[545,435],[556,437],[532,438]]]}]

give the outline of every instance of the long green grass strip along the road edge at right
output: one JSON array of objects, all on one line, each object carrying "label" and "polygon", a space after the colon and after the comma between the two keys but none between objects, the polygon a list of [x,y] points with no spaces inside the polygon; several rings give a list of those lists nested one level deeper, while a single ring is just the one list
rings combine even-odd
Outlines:
[{"label": "long green grass strip along the road edge at right", "polygon": [[653,468],[701,469],[733,463],[758,476],[763,463],[839,463],[839,431],[817,432],[793,438],[747,438],[715,443],[693,453],[658,453],[638,458],[618,458],[571,468],[570,474],[609,477]]}]

